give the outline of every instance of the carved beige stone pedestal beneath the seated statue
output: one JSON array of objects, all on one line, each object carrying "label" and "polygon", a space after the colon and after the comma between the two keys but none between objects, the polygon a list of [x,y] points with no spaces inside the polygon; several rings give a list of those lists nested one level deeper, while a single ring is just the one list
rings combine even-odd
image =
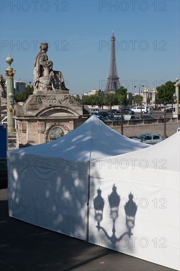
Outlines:
[{"label": "carved beige stone pedestal beneath the seated statue", "polygon": [[90,109],[67,91],[36,91],[15,105],[17,143],[36,145],[66,135],[90,117]]}]

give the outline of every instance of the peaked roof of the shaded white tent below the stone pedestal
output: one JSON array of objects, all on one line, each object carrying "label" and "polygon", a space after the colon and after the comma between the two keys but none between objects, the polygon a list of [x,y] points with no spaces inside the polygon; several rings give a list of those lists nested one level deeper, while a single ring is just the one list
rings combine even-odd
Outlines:
[{"label": "peaked roof of the shaded white tent below the stone pedestal", "polygon": [[95,115],[67,135],[51,142],[10,152],[20,155],[61,157],[75,161],[93,161],[149,147],[110,129]]}]

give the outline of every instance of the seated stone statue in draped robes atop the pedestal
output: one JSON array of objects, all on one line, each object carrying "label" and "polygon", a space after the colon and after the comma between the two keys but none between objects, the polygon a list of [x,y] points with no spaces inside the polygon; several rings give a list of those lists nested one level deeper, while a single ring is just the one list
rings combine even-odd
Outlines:
[{"label": "seated stone statue in draped robes atop the pedestal", "polygon": [[34,60],[34,90],[65,90],[61,71],[53,70],[53,62],[48,60],[48,43],[40,43],[40,52]]}]

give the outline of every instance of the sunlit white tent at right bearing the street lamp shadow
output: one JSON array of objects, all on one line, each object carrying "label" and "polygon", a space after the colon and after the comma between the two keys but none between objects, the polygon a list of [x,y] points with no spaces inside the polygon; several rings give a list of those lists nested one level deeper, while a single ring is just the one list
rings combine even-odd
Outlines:
[{"label": "sunlit white tent at right bearing the street lamp shadow", "polygon": [[90,163],[89,241],[180,269],[180,133]]}]

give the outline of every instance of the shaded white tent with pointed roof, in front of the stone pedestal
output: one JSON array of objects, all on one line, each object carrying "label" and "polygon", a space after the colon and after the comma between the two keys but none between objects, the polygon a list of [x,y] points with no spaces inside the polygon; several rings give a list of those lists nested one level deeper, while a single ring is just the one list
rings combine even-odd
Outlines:
[{"label": "shaded white tent with pointed roof, in front of the stone pedestal", "polygon": [[147,147],[91,116],[59,139],[9,151],[9,215],[88,240],[90,163]]}]

